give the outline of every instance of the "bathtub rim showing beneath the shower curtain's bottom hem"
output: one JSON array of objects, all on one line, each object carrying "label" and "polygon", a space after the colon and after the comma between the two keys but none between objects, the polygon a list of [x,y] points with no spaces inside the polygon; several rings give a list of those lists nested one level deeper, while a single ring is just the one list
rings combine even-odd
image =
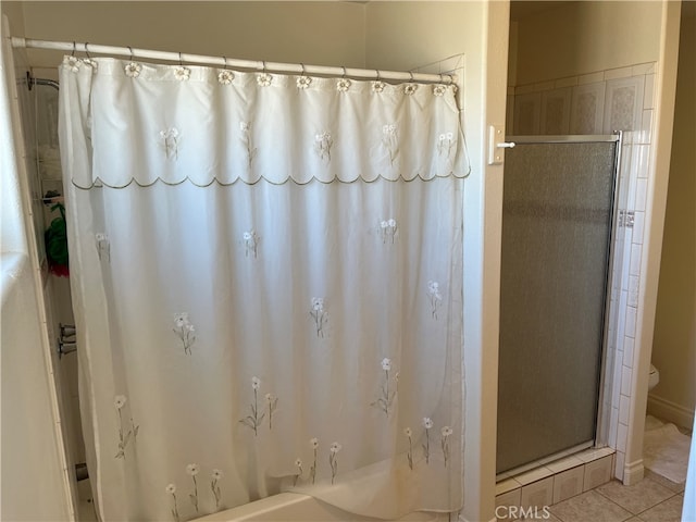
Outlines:
[{"label": "bathtub rim showing beneath the shower curtain's bottom hem", "polygon": [[[338,508],[298,493],[281,493],[237,508],[196,519],[195,522],[330,522],[330,521],[373,521],[341,511]],[[403,522],[448,522],[448,513],[418,512],[399,521]]]}]

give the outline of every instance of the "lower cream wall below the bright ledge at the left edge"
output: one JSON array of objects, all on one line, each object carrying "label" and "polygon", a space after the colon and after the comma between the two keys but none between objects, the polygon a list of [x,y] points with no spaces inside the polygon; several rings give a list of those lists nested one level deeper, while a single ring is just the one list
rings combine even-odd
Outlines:
[{"label": "lower cream wall below the bright ledge at the left edge", "polygon": [[70,497],[63,483],[62,448],[54,438],[57,419],[38,322],[36,274],[27,256],[3,256],[2,264],[0,515],[8,521],[67,521]]}]

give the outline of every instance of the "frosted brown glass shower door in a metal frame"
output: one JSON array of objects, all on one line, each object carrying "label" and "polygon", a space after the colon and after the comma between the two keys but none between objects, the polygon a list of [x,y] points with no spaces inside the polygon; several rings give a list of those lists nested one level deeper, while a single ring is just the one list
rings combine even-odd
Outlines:
[{"label": "frosted brown glass shower door in a metal frame", "polygon": [[497,473],[595,438],[618,137],[549,138],[506,152]]}]

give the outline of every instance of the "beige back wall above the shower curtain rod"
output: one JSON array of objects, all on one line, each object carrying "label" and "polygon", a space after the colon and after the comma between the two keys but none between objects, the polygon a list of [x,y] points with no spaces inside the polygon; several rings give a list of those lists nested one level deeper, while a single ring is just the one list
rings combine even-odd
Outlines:
[{"label": "beige back wall above the shower curtain rod", "polygon": [[[365,60],[364,5],[355,2],[22,3],[30,38],[348,67]],[[28,54],[48,70],[37,75],[54,75],[62,57]]]}]

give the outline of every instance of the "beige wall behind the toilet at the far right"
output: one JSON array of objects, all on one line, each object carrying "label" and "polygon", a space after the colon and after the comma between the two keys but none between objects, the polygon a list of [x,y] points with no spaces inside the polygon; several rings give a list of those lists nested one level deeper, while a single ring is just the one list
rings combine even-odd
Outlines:
[{"label": "beige wall behind the toilet at the far right", "polygon": [[672,159],[648,412],[692,427],[696,405],[696,3],[682,7]]}]

